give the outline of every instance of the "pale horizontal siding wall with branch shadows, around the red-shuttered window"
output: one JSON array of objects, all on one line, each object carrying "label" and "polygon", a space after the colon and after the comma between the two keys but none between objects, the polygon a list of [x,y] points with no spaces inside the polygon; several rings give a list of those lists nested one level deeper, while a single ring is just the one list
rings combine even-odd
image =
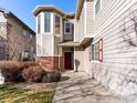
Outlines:
[{"label": "pale horizontal siding wall with branch shadows, around the red-shuttered window", "polygon": [[126,103],[137,102],[137,47],[130,44],[137,44],[136,22],[136,0],[102,0],[95,17],[93,43],[103,38],[103,62],[92,61],[94,76]]}]

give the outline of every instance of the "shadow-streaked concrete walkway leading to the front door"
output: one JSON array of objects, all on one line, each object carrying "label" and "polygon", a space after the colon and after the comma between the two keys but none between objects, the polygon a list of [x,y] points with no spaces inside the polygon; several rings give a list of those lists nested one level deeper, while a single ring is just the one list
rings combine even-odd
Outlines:
[{"label": "shadow-streaked concrete walkway leading to the front door", "polygon": [[53,103],[122,103],[84,72],[62,74]]}]

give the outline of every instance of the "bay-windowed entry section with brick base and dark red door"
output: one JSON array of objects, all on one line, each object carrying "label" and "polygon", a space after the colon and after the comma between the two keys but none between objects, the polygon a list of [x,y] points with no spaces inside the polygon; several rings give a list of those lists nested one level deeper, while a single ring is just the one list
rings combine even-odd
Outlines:
[{"label": "bay-windowed entry section with brick base and dark red door", "polygon": [[74,14],[66,14],[54,6],[38,6],[36,61],[46,69],[73,68]]}]

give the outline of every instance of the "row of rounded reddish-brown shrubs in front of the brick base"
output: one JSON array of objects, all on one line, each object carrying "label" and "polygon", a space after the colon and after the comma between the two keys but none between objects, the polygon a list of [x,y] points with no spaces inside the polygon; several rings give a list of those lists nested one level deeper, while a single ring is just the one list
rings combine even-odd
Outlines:
[{"label": "row of rounded reddish-brown shrubs in front of the brick base", "polygon": [[60,71],[46,70],[35,62],[4,61],[0,62],[0,71],[6,82],[51,83],[61,79]]}]

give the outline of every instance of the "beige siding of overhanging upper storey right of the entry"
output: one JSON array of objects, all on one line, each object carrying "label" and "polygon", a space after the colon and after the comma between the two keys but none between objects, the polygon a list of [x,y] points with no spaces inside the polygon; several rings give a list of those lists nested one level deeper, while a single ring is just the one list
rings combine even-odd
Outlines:
[{"label": "beige siding of overhanging upper storey right of the entry", "polygon": [[94,1],[85,1],[80,20],[75,20],[74,41],[80,42],[94,33]]}]

